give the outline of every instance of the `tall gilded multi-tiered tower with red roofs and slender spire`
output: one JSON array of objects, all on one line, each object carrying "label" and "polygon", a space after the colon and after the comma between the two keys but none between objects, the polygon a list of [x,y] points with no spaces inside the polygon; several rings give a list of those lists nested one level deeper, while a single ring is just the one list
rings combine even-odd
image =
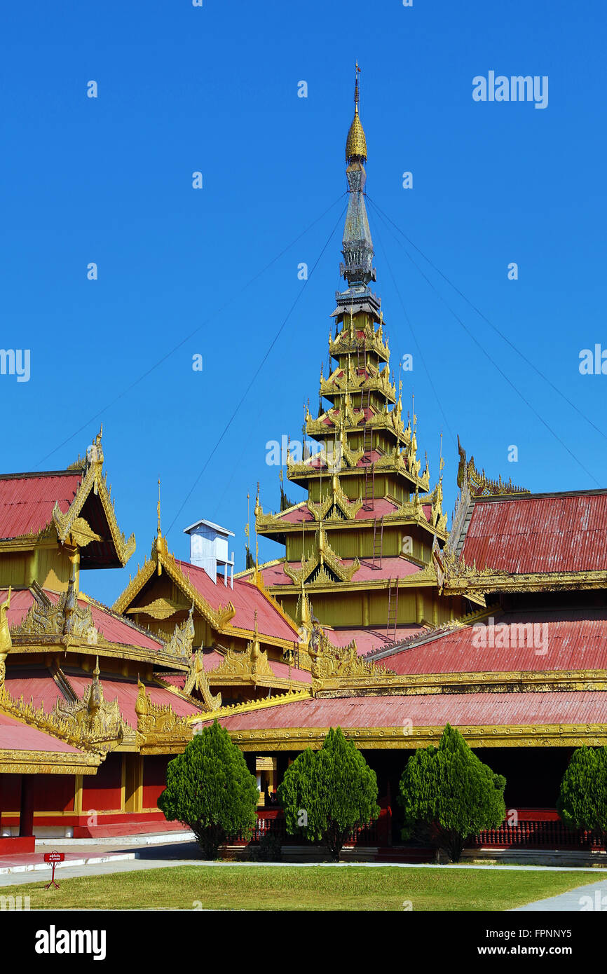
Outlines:
[{"label": "tall gilded multi-tiered tower with red roofs and slender spire", "polygon": [[257,502],[255,518],[259,534],[286,546],[284,560],[256,569],[260,581],[304,624],[310,600],[323,626],[334,628],[333,642],[355,639],[361,653],[460,616],[469,604],[439,595],[433,549],[447,536],[442,469],[430,492],[428,461],[422,468],[418,459],[417,418],[413,411],[405,426],[381,300],[369,287],[375,269],[358,72],[357,66],[346,141],[340,273],[347,288],[336,293],[329,333],[335,364],[328,377],[321,374],[319,415],[306,415],[306,433],[319,451],[287,457],[288,479],[307,490],[308,500],[277,514],[264,514]]}]

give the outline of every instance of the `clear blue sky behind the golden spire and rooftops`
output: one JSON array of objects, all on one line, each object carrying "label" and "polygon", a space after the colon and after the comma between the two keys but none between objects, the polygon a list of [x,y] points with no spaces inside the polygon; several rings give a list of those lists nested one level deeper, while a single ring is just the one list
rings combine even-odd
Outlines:
[{"label": "clear blue sky behind the golden spire and rooftops", "polygon": [[[444,433],[446,506],[457,432],[477,466],[534,491],[607,486],[607,376],[579,372],[582,349],[607,348],[602,5],[30,2],[2,19],[0,348],[29,349],[31,376],[0,375],[1,468],[63,468],[102,419],[137,552],[124,573],[85,581],[93,594],[113,601],[149,550],[158,477],[179,556],[182,528],[207,517],[236,532],[242,567],[247,492],[252,506],[260,481],[263,506],[279,505],[266,443],[299,436],[308,397],[318,407],[344,286],[341,222],[327,239],[345,204],[357,57],[369,197],[602,431],[418,255],[433,290],[369,206],[392,364],[414,356],[403,392],[433,481]],[[473,78],[490,70],[548,76],[548,107],[475,102]],[[323,247],[300,293],[297,266]]]}]

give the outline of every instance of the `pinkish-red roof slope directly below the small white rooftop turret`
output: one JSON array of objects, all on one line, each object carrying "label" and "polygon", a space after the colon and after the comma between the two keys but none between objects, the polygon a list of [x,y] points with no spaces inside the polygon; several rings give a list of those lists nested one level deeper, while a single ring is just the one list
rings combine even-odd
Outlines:
[{"label": "pinkish-red roof slope directly below the small white rooftop turret", "polygon": [[289,625],[272,602],[250,581],[235,579],[234,588],[231,588],[229,584],[224,585],[220,575],[214,584],[204,568],[191,565],[190,562],[177,560],[177,565],[213,610],[218,610],[220,606],[225,608],[228,602],[232,603],[236,616],[230,619],[231,625],[252,632],[256,609],[257,628],[264,636],[274,636],[289,642],[298,638],[295,625]]}]

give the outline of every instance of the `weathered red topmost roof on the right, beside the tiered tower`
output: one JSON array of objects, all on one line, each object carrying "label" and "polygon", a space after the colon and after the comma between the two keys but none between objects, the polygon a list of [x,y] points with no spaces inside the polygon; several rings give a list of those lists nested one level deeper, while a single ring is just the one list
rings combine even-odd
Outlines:
[{"label": "weathered red topmost roof on the right, beside the tiered tower", "polygon": [[607,569],[607,494],[477,501],[463,555],[512,572]]}]

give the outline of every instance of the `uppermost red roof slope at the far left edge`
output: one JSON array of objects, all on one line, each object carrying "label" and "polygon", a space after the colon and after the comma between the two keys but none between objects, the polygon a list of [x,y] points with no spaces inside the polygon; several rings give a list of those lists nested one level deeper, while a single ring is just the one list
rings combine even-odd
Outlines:
[{"label": "uppermost red roof slope at the far left edge", "polygon": [[81,483],[79,473],[0,477],[0,539],[37,534],[53,520],[57,501],[65,513]]}]

